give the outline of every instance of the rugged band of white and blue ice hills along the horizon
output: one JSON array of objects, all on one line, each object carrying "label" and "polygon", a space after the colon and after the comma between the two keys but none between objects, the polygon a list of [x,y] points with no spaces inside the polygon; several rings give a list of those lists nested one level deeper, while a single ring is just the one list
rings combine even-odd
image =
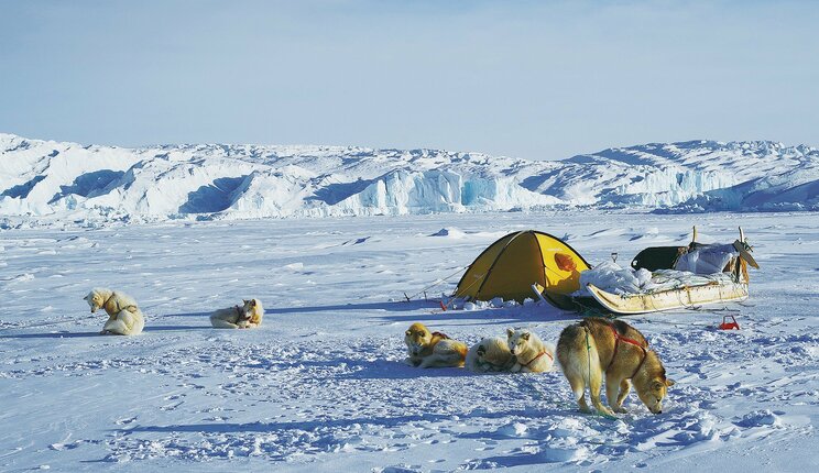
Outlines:
[{"label": "rugged band of white and blue ice hills along the horizon", "polygon": [[565,207],[819,209],[819,151],[691,141],[563,161],[354,146],[140,148],[0,133],[0,226]]}]

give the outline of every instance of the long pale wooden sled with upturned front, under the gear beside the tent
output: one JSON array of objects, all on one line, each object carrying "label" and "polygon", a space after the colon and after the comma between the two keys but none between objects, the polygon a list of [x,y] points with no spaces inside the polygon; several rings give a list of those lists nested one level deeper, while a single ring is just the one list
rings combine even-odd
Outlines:
[{"label": "long pale wooden sled with upturned front, under the gear beside the tent", "polygon": [[623,316],[747,299],[747,284],[734,282],[624,295],[607,293],[593,284],[587,287],[594,300],[605,310]]}]

